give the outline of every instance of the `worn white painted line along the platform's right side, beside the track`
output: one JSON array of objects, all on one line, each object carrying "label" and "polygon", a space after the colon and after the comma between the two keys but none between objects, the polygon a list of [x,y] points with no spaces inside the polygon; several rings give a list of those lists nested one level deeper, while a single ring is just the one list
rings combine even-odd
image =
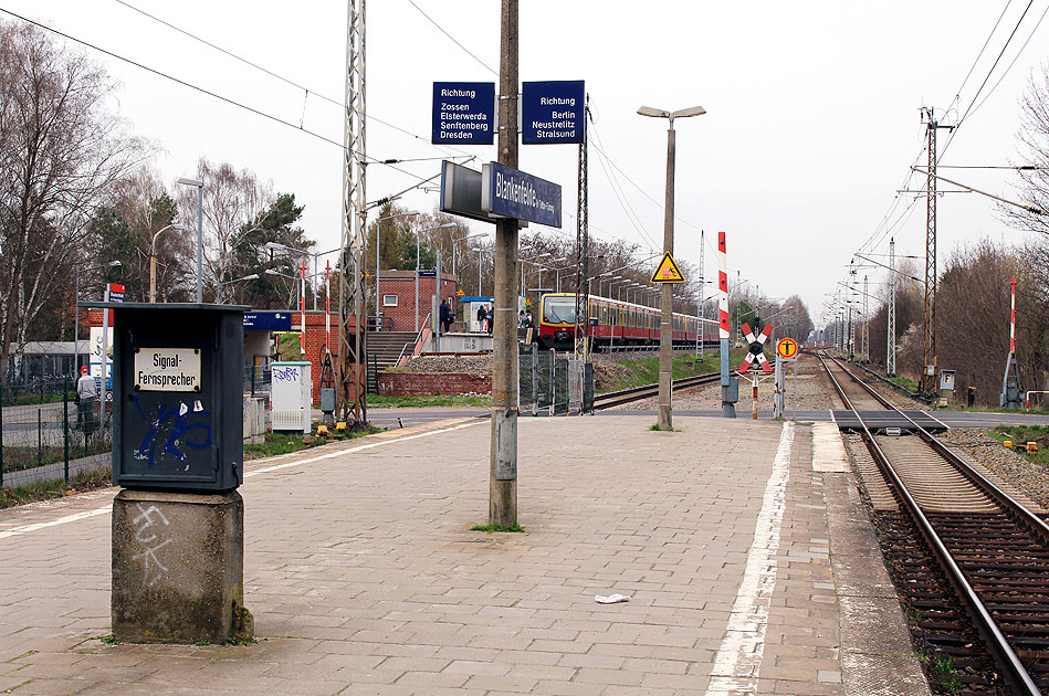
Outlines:
[{"label": "worn white painted line along the platform's right side, beside the track", "polygon": [[776,553],[786,510],[790,476],[794,423],[784,423],[773,471],[765,484],[762,510],[754,524],[754,540],[747,551],[746,569],[728,614],[725,637],[714,656],[706,696],[754,693],[765,656],[768,608],[776,589]]}]

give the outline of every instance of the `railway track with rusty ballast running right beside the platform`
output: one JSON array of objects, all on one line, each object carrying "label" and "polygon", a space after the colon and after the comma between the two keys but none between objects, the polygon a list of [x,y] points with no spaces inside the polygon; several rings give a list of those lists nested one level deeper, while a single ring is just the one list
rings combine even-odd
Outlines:
[{"label": "railway track with rusty ballast running right beside the platform", "polygon": [[885,556],[912,623],[950,675],[944,690],[1049,694],[1046,510],[1039,517],[851,371],[820,360],[861,423],[859,411],[877,403],[916,433],[874,435],[864,423],[861,434],[895,499],[875,506]]}]

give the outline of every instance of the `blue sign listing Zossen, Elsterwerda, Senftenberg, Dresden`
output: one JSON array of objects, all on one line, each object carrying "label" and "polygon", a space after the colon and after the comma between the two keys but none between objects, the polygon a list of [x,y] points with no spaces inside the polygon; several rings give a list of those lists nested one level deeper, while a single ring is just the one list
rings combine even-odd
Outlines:
[{"label": "blue sign listing Zossen, Elsterwerda, Senftenberg, Dresden", "polygon": [[433,83],[433,144],[492,145],[494,82]]}]

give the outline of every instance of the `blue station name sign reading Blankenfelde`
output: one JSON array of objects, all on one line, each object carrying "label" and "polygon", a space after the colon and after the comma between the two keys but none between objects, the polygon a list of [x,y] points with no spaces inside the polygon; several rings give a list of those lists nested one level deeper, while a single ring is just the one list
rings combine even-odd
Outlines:
[{"label": "blue station name sign reading Blankenfelde", "polygon": [[481,172],[481,209],[497,218],[514,218],[560,228],[560,187],[497,162]]}]

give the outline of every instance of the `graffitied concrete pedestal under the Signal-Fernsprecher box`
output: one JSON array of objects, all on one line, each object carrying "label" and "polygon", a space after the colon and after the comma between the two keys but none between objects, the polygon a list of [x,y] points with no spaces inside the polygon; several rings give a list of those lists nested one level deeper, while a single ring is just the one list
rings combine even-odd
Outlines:
[{"label": "graffitied concrete pedestal under the Signal-Fernsprecher box", "polygon": [[120,491],[112,614],[114,637],[129,643],[250,639],[240,494]]}]

